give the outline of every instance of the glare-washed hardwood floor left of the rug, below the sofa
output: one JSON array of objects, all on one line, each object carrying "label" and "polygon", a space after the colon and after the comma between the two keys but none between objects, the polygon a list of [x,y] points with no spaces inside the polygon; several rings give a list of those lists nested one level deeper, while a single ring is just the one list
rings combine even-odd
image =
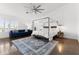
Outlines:
[{"label": "glare-washed hardwood floor left of the rug, below the sofa", "polygon": [[14,46],[10,46],[9,39],[0,39],[0,55],[20,55]]}]

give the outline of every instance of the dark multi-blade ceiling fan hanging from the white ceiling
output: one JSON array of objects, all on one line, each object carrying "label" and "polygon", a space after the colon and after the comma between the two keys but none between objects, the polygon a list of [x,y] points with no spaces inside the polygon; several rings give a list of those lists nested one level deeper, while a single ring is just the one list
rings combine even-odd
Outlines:
[{"label": "dark multi-blade ceiling fan hanging from the white ceiling", "polygon": [[41,8],[42,5],[32,5],[31,8],[26,11],[26,13],[35,13],[35,14],[38,14],[38,13],[42,13],[43,10],[45,9],[42,9]]}]

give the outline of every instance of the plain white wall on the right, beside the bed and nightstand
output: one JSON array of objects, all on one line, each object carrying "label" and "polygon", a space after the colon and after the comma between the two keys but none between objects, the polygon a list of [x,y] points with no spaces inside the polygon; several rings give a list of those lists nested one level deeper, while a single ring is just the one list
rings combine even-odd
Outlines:
[{"label": "plain white wall on the right, beside the bed and nightstand", "polygon": [[66,38],[77,39],[77,20],[79,18],[77,8],[79,8],[79,4],[67,4],[49,14],[51,19],[59,20],[63,24],[64,37]]}]

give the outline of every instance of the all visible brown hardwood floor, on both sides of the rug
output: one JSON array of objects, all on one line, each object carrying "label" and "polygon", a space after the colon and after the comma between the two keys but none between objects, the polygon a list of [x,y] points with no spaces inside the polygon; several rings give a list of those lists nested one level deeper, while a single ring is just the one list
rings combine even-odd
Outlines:
[{"label": "all visible brown hardwood floor, on both sides of the rug", "polygon": [[[79,42],[73,39],[56,39],[58,44],[50,55],[79,55]],[[21,55],[18,50],[10,47],[9,39],[0,39],[0,55]]]}]

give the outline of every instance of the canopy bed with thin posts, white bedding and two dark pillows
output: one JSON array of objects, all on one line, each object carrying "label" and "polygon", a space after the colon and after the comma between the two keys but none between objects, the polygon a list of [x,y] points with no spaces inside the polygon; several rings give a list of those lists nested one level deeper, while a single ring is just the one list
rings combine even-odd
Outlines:
[{"label": "canopy bed with thin posts, white bedding and two dark pillows", "polygon": [[41,35],[51,41],[58,32],[57,21],[50,19],[50,17],[33,20],[32,30],[33,35]]}]

